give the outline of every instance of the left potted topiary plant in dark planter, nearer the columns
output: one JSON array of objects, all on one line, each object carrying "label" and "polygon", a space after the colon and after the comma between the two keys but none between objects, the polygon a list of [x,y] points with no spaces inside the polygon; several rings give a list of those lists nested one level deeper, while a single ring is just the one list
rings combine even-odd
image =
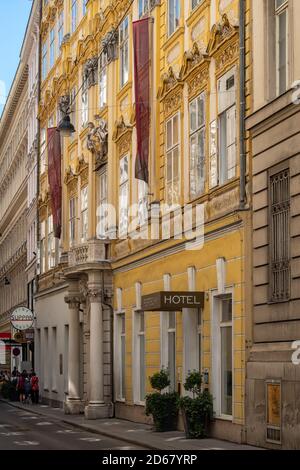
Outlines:
[{"label": "left potted topiary plant in dark planter, nearer the columns", "polygon": [[178,394],[162,393],[170,385],[169,373],[161,369],[149,377],[151,387],[156,392],[146,396],[146,415],[152,415],[155,430],[158,432],[174,431],[177,428]]}]

